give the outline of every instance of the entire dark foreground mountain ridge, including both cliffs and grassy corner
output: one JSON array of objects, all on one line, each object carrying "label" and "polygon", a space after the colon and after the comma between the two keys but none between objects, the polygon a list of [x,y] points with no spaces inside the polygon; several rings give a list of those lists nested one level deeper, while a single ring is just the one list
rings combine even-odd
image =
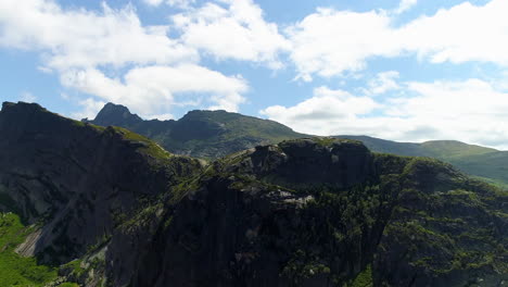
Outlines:
[{"label": "entire dark foreground mountain ridge, including both cliffs and grassy corner", "polygon": [[0,286],[508,279],[508,194],[436,160],[304,138],[202,166],[27,103],[0,135]]}]

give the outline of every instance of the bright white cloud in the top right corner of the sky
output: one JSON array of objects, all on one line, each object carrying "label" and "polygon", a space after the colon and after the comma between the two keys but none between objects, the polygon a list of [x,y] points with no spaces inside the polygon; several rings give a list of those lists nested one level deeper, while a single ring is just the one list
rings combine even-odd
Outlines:
[{"label": "bright white cloud in the top right corner of the sky", "polygon": [[508,66],[508,1],[469,2],[440,10],[401,28],[405,49],[433,63],[492,62]]}]

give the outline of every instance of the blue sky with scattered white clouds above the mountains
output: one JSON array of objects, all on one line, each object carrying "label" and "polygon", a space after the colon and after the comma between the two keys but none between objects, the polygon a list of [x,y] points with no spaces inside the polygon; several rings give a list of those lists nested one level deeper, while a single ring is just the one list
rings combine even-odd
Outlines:
[{"label": "blue sky with scattered white clouds above the mountains", "polygon": [[508,149],[506,0],[1,0],[0,100]]}]

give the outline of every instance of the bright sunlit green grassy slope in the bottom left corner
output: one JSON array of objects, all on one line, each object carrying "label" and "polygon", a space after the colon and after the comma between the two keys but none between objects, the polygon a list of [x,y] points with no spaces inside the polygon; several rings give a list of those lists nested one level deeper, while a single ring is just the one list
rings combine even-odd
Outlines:
[{"label": "bright sunlit green grassy slope in the bottom left corner", "polygon": [[14,213],[0,213],[0,287],[37,287],[56,277],[56,270],[39,265],[35,258],[14,252],[31,232]]}]

